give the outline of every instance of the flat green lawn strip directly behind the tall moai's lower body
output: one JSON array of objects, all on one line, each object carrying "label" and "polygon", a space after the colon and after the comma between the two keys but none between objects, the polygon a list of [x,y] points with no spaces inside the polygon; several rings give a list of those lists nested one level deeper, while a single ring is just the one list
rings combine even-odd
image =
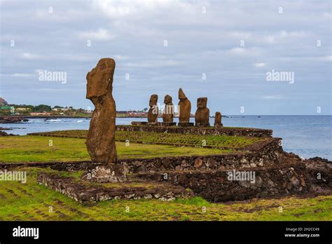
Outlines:
[{"label": "flat green lawn strip directly behind the tall moai's lower body", "polygon": [[[52,146],[50,146],[50,140]],[[174,147],[156,144],[116,142],[119,158],[154,158],[162,156],[228,154],[232,150]],[[50,162],[90,160],[85,139],[68,137],[0,137],[0,162]]]}]

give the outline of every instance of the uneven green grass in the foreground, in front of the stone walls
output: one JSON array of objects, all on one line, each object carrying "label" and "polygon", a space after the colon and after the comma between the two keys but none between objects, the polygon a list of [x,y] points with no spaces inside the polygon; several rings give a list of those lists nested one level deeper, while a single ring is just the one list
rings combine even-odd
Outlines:
[{"label": "uneven green grass in the foreground, in front of the stone walls", "polygon": [[[286,197],[235,203],[208,203],[200,197],[104,201],[82,205],[36,184],[41,168],[27,170],[27,183],[0,182],[0,220],[324,220],[332,219],[332,196]],[[77,172],[76,172],[77,174]],[[50,207],[53,212],[49,212]],[[129,207],[129,212],[126,208]],[[282,207],[282,212],[279,212]],[[204,212],[203,210],[206,210]]]}]

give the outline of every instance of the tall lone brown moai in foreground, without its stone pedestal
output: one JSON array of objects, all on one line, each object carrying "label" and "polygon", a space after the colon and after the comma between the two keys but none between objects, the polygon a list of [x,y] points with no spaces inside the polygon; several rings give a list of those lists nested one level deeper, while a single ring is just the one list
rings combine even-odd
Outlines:
[{"label": "tall lone brown moai in foreground, without its stone pedestal", "polygon": [[113,74],[116,62],[102,58],[88,72],[86,98],[95,105],[90,121],[86,147],[93,162],[116,163],[116,102],[113,99]]}]

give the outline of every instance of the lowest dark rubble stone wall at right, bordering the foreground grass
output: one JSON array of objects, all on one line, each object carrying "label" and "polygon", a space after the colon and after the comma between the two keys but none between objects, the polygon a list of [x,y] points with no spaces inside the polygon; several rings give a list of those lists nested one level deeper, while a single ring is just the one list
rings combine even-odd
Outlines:
[{"label": "lowest dark rubble stone wall at right, bordering the foreground grass", "polygon": [[[229,175],[247,175],[247,178],[229,178]],[[305,165],[298,163],[272,168],[250,168],[237,170],[182,171],[141,174],[137,177],[157,182],[170,182],[193,190],[211,202],[240,201],[300,194],[310,191],[303,175]],[[249,177],[249,175],[254,177]],[[247,180],[244,180],[247,179]]]}]

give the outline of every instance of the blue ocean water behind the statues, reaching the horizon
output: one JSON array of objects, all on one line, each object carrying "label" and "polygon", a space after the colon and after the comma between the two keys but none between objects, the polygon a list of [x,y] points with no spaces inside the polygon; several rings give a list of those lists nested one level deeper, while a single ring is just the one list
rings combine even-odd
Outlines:
[{"label": "blue ocean water behind the statues, reaching the horizon", "polygon": [[[146,118],[116,118],[117,125],[129,125],[131,121],[146,121]],[[32,118],[25,123],[0,124],[0,127],[13,128],[6,130],[7,133],[26,135],[52,130],[88,129],[89,123],[90,118]],[[210,123],[213,125],[214,118],[210,118]],[[285,151],[304,158],[319,156],[332,160],[332,116],[229,116],[223,117],[222,123],[223,126],[272,129],[274,137],[282,137]]]}]

